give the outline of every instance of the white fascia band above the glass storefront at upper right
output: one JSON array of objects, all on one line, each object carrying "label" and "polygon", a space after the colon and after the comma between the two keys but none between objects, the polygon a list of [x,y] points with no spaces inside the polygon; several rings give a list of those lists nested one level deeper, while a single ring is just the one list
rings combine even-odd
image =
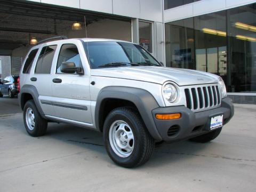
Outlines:
[{"label": "white fascia band above the glass storefront at upper right", "polygon": [[164,22],[195,17],[202,14],[231,9],[237,6],[255,3],[252,0],[201,0],[164,11]]}]

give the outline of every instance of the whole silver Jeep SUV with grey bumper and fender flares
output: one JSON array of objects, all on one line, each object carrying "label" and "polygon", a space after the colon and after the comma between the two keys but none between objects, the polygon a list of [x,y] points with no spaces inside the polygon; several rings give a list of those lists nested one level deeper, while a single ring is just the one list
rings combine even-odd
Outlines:
[{"label": "whole silver Jeep SUV with grey bumper and fender flares", "polygon": [[113,39],[62,39],[31,48],[20,72],[28,134],[47,122],[103,132],[107,153],[134,167],[155,143],[216,138],[234,114],[223,80],[166,68],[140,45]]}]

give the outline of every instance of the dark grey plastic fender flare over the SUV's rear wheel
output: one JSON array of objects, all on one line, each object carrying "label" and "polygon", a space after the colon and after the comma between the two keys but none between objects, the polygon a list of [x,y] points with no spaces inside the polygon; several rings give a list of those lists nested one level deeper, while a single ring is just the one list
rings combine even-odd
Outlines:
[{"label": "dark grey plastic fender flare over the SUV's rear wheel", "polygon": [[39,99],[38,99],[39,94],[38,94],[38,91],[37,91],[37,89],[34,85],[23,85],[22,86],[22,89],[21,89],[21,91],[18,95],[19,105],[20,105],[21,109],[23,110],[24,106],[25,106],[25,95],[26,95],[26,93],[32,95],[37,110],[39,111],[40,115],[44,116],[44,112],[43,112],[43,110],[42,110],[42,108],[39,104]]}]

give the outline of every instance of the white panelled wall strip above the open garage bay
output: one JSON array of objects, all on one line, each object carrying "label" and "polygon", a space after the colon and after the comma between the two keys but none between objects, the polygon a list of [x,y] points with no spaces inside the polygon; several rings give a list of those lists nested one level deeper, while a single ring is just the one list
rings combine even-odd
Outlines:
[{"label": "white panelled wall strip above the open garage bay", "polygon": [[163,22],[162,0],[27,0]]}]

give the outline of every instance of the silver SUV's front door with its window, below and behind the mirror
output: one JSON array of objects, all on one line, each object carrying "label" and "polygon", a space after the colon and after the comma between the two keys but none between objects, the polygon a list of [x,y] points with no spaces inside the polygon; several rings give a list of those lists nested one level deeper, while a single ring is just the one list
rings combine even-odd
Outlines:
[{"label": "silver SUV's front door with its window, below and behind the mirror", "polygon": [[[84,75],[66,74],[60,71],[62,62],[74,62],[82,67]],[[53,107],[57,117],[73,121],[92,123],[89,90],[90,70],[81,41],[67,40],[60,46],[52,77]]]}]

